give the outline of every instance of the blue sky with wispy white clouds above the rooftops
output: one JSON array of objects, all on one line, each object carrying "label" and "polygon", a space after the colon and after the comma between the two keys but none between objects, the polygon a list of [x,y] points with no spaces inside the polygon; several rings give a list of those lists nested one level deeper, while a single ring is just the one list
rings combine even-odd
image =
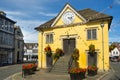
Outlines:
[{"label": "blue sky with wispy white clouds above the rooftops", "polygon": [[120,0],[0,0],[0,11],[21,27],[25,42],[37,42],[35,27],[57,16],[66,3],[76,10],[91,8],[113,16],[109,41],[120,42]]}]

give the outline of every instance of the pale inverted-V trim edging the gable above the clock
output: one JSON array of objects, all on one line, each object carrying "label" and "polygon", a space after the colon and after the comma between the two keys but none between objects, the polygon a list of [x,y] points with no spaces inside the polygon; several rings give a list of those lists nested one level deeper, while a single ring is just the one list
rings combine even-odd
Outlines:
[{"label": "pale inverted-V trim edging the gable above the clock", "polygon": [[55,23],[58,21],[58,19],[62,16],[62,14],[65,12],[65,10],[69,8],[71,9],[71,11],[73,11],[77,16],[79,16],[83,21],[86,22],[85,18],[83,18],[80,14],[78,14],[76,12],[76,10],[74,10],[69,4],[66,4],[66,6],[64,7],[64,9],[60,12],[60,14],[57,16],[57,18],[54,20],[54,22],[52,23],[51,27],[53,27],[55,25]]}]

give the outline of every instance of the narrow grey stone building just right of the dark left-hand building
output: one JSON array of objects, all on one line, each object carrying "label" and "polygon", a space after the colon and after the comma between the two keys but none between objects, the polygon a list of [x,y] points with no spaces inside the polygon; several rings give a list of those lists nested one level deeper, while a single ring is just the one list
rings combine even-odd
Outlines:
[{"label": "narrow grey stone building just right of the dark left-hand building", "polygon": [[14,63],[22,63],[24,56],[24,40],[23,33],[19,26],[14,26],[14,34],[15,34]]}]

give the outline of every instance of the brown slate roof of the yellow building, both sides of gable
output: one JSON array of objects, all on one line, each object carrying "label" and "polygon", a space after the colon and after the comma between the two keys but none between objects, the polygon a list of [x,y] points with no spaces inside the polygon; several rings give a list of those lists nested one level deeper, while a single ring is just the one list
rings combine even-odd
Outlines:
[{"label": "brown slate roof of the yellow building, both sides of gable", "polygon": [[[97,12],[97,11],[92,10],[90,8],[87,8],[87,9],[84,9],[84,10],[80,10],[80,11],[77,11],[77,12],[83,18],[85,18],[85,20],[89,19],[89,22],[90,21],[96,21],[96,20],[109,19],[110,20],[109,25],[110,25],[111,24],[111,20],[113,18],[112,16],[109,16],[109,15]],[[46,22],[44,24],[41,24],[40,26],[36,27],[35,29],[39,30],[39,29],[51,28],[51,25],[52,25],[52,23],[54,22],[55,19],[56,19],[56,17],[51,19],[51,20],[49,20],[48,22]]]}]

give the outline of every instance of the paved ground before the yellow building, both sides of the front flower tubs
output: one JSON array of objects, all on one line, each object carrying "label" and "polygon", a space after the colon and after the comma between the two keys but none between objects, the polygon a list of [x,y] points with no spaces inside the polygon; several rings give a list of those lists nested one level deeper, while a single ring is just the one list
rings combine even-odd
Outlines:
[{"label": "paved ground before the yellow building, both sides of the front flower tubs", "polygon": [[[86,78],[84,80],[99,80],[99,78],[103,75],[104,73],[98,73],[98,75],[90,77],[86,75]],[[70,80],[69,74],[66,75],[58,75],[58,74],[51,74],[51,73],[46,73],[44,71],[36,71],[35,74],[28,75],[25,78],[22,78],[22,74],[18,73],[15,76],[12,76],[13,80]]]}]

